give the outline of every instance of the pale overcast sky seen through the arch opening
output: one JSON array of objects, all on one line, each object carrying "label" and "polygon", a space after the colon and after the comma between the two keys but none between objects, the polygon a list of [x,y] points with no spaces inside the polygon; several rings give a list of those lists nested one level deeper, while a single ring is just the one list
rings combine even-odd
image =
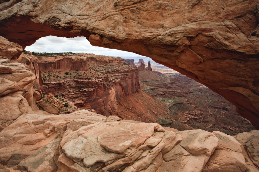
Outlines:
[{"label": "pale overcast sky seen through the arch opening", "polygon": [[25,50],[31,52],[85,52],[116,57],[140,56],[132,52],[92,46],[85,37],[61,38],[56,36],[46,36],[37,40],[33,45],[27,46]]}]

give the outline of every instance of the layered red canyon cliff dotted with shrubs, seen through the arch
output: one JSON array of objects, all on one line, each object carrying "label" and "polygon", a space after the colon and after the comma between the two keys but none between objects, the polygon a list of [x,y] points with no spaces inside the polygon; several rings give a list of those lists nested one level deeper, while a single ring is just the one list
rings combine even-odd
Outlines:
[{"label": "layered red canyon cliff dotted with shrubs, seen through the arch", "polygon": [[[71,64],[68,59],[80,63],[82,57],[87,69],[78,70],[78,66],[69,69]],[[48,64],[47,60],[55,58],[59,60],[52,60]],[[54,68],[64,61],[62,58],[68,62],[67,68]],[[123,95],[132,95],[140,89],[136,67],[123,65],[123,62],[121,58],[94,54],[39,58],[39,68],[43,66],[43,75],[46,73],[49,77],[44,76],[43,93],[64,96],[81,109],[94,109],[105,116],[117,115],[117,99]],[[50,68],[45,66],[51,66],[52,70],[47,71]],[[56,78],[50,79],[53,76]]]}]

